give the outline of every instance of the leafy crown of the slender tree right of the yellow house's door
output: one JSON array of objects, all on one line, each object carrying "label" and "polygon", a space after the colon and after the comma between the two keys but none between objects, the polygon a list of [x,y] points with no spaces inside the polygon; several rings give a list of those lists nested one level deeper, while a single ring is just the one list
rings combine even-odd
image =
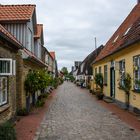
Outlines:
[{"label": "leafy crown of the slender tree right of the yellow house's door", "polygon": [[125,93],[129,94],[130,90],[131,90],[131,76],[129,73],[126,73],[125,76],[124,76],[124,84],[122,86],[122,90],[125,91]]}]

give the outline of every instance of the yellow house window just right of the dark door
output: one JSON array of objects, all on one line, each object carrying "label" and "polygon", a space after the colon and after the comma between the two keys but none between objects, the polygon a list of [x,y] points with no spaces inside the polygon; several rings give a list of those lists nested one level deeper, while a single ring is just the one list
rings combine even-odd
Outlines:
[{"label": "yellow house window just right of the dark door", "polygon": [[124,86],[125,60],[119,61],[120,87]]}]

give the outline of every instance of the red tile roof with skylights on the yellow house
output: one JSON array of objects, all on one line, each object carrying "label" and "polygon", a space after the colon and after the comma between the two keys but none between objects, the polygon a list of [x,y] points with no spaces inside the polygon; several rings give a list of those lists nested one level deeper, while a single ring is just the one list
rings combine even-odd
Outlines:
[{"label": "red tile roof with skylights on the yellow house", "polygon": [[[134,35],[133,33],[134,32],[139,32],[139,31],[138,30],[136,31],[133,26],[139,18],[140,18],[140,4],[137,4],[133,8],[131,13],[128,15],[128,17],[124,20],[124,22],[117,29],[117,31],[113,34],[113,36],[106,43],[106,45],[103,48],[103,50],[101,51],[101,53],[97,56],[95,62],[97,62],[99,60],[102,60],[103,58],[105,58],[105,57],[111,55],[112,53],[116,52],[128,40],[134,39],[136,37],[136,35]],[[130,30],[129,30],[129,28],[130,28]],[[127,31],[128,31],[128,33],[127,33]],[[131,32],[131,35],[130,35],[130,32]]]}]

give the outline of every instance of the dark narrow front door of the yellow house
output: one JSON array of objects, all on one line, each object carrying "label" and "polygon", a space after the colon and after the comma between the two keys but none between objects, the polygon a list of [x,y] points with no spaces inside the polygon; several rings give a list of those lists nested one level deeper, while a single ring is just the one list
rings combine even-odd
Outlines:
[{"label": "dark narrow front door of the yellow house", "polygon": [[115,70],[110,69],[110,96],[115,98]]}]

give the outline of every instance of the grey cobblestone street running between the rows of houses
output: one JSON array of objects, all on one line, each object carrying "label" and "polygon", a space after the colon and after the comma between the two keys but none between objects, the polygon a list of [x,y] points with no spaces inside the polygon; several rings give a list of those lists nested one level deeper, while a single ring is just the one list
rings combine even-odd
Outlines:
[{"label": "grey cobblestone street running between the rows of houses", "polygon": [[86,90],[69,82],[59,87],[37,134],[37,140],[140,140]]}]

